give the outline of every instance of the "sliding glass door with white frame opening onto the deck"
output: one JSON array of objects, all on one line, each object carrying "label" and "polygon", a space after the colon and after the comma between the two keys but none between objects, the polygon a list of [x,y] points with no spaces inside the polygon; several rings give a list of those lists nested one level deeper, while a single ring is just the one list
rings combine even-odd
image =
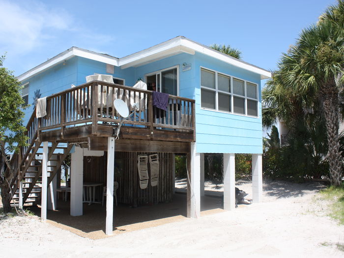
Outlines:
[{"label": "sliding glass door with white frame opening onto the deck", "polygon": [[[171,67],[145,75],[148,90],[178,95],[178,67]],[[154,87],[154,88],[153,88]]]}]

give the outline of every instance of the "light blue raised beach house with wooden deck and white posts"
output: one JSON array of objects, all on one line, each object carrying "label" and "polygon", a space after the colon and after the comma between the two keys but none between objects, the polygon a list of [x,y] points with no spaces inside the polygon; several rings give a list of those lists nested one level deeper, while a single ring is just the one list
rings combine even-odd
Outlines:
[{"label": "light blue raised beach house with wooden deck and white posts", "polygon": [[[86,82],[86,76],[97,74],[111,75],[113,83]],[[169,201],[175,153],[188,157],[188,217],[200,215],[204,153],[224,155],[225,209],[235,205],[234,154],[252,153],[253,199],[259,201],[260,81],[270,76],[267,70],[182,36],[121,58],[72,47],[18,77],[29,104],[47,97],[46,116],[37,118],[34,107],[26,111],[29,147],[23,147],[11,161],[18,172],[12,182],[18,202],[41,201],[45,219],[47,199],[49,206],[49,195],[58,187],[54,178],[68,153],[72,153],[71,215],[83,214],[83,181],[93,176],[93,181],[107,186],[107,234],[112,233],[114,180],[119,182],[116,198],[121,202]],[[132,87],[138,80],[146,83],[146,90]],[[166,110],[153,106],[153,86],[169,94]],[[115,99],[122,99],[132,112],[118,139],[115,133],[121,117]],[[132,102],[138,105],[133,108]],[[160,164],[168,164],[160,165],[155,188],[139,188],[139,153],[157,153]],[[84,156],[103,159],[98,175],[87,174],[90,167]],[[118,157],[124,163],[121,178],[114,174]],[[41,187],[37,186],[40,180]],[[47,193],[48,188],[54,191]],[[168,194],[161,197],[159,189]]]}]

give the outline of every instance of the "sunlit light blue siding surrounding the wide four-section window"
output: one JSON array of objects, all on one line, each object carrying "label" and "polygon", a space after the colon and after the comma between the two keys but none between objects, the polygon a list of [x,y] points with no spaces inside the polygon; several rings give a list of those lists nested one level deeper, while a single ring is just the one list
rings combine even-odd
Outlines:
[{"label": "sunlit light blue siding surrounding the wide four-section window", "polygon": [[[201,109],[201,67],[259,85],[258,117]],[[196,53],[196,151],[201,153],[262,153],[260,75]]]}]

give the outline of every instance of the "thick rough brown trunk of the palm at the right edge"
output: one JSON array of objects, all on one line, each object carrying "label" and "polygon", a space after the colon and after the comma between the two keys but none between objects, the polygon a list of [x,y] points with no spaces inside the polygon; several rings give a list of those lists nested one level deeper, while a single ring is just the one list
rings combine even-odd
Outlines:
[{"label": "thick rough brown trunk of the palm at the right edge", "polygon": [[339,101],[338,89],[335,84],[322,87],[320,90],[320,100],[324,109],[327,129],[330,183],[331,185],[339,186],[342,179],[342,156],[339,151]]}]

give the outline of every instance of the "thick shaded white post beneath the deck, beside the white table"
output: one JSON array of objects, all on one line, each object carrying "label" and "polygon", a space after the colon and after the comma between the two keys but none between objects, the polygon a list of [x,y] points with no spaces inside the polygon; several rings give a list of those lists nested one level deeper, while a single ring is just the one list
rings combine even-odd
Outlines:
[{"label": "thick shaded white post beneath the deck, beside the white table", "polygon": [[71,157],[70,172],[70,215],[83,215],[83,170],[84,155],[83,149],[75,146]]}]

